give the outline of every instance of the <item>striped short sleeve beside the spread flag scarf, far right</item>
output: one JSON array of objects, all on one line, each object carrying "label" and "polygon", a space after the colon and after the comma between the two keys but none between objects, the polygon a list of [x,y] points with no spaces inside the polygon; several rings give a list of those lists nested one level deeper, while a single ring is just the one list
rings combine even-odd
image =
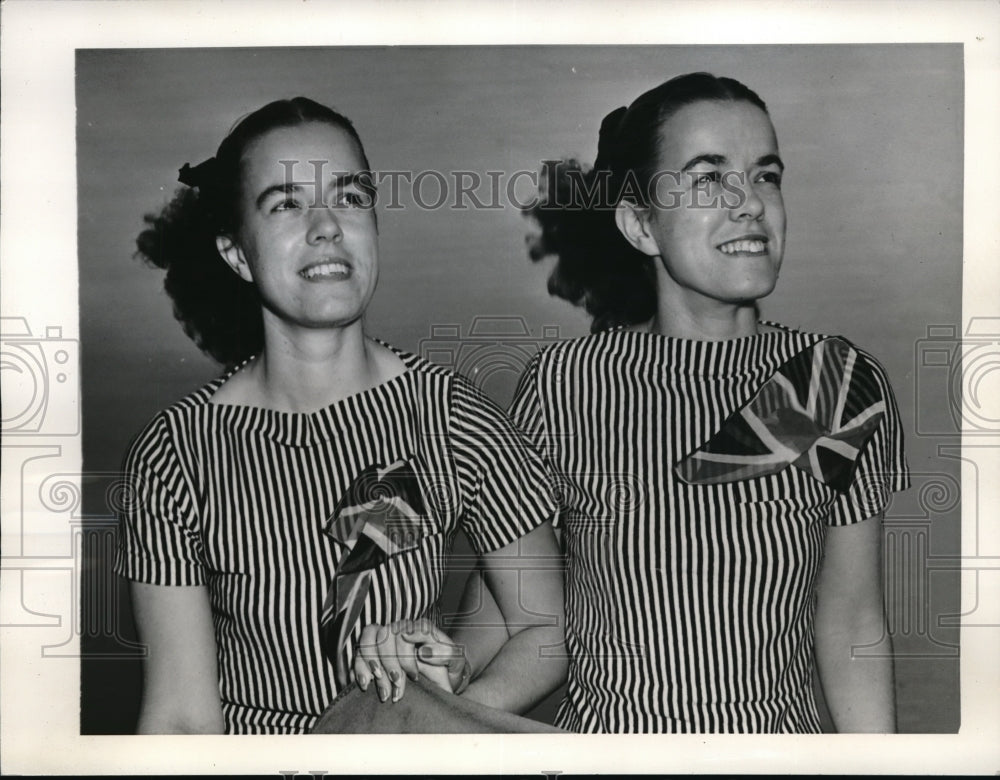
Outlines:
[{"label": "striped short sleeve beside the spread flag scarf, far right", "polygon": [[827,516],[827,525],[831,526],[850,525],[882,514],[892,494],[910,486],[899,409],[885,369],[871,355],[858,350],[856,370],[863,373],[861,380],[871,384],[885,408],[878,427],[858,456],[850,488],[838,496]]}]

